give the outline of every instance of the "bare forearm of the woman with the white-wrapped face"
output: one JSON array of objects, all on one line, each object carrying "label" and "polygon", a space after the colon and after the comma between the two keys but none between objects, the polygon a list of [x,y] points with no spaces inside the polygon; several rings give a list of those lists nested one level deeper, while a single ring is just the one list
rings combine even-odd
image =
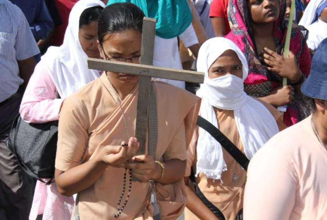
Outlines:
[{"label": "bare forearm of the woman with the white-wrapped face", "polygon": [[198,195],[196,195],[189,186],[186,186],[185,188],[188,197],[186,207],[193,212],[193,214],[195,214],[199,219],[217,219],[214,213],[204,205]]}]

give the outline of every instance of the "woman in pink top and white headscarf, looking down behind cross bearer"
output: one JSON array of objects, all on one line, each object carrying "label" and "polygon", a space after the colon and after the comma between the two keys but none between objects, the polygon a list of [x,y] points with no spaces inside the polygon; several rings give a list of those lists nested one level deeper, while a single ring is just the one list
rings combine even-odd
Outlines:
[{"label": "woman in pink top and white headscarf, looking down behind cross bearer", "polygon": [[[45,123],[58,120],[64,98],[98,78],[96,70],[89,70],[88,57],[99,58],[96,46],[96,25],[105,5],[99,0],[80,0],[73,7],[64,42],[50,47],[35,67],[20,107],[23,120]],[[55,155],[54,155],[55,157]],[[29,219],[69,219],[73,197],[58,193],[55,183],[47,186],[37,181]]]}]

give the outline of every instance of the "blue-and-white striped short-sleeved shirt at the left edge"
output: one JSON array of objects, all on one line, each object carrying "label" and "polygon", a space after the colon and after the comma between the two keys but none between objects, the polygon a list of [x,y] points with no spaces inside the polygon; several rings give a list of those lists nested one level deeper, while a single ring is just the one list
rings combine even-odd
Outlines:
[{"label": "blue-and-white striped short-sleeved shirt at the left edge", "polygon": [[0,0],[0,102],[17,92],[24,80],[17,60],[40,53],[22,10]]}]

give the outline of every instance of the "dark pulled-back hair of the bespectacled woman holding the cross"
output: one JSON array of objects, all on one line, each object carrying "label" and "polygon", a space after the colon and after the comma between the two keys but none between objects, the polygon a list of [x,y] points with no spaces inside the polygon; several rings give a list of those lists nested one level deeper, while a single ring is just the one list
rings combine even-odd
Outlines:
[{"label": "dark pulled-back hair of the bespectacled woman holding the cross", "polygon": [[114,3],[104,8],[98,19],[97,37],[102,45],[106,34],[128,29],[142,33],[144,13],[131,3]]}]

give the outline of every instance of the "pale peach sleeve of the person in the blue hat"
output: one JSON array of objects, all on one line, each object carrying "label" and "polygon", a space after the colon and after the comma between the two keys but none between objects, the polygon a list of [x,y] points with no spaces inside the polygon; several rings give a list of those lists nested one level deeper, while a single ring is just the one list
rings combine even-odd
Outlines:
[{"label": "pale peach sleeve of the person in the blue hat", "polygon": [[244,220],[289,219],[298,178],[282,143],[268,142],[250,161],[245,186]]}]

